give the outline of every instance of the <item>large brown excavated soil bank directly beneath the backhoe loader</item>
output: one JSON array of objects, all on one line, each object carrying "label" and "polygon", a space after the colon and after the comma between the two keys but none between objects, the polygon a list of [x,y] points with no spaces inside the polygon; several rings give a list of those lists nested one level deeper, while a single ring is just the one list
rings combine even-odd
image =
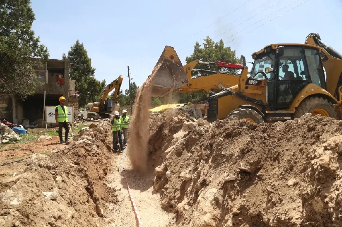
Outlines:
[{"label": "large brown excavated soil bank directly beneath the backhoe loader", "polygon": [[341,121],[199,120],[179,130],[179,116],[155,117],[149,142],[154,156],[164,151],[154,189],[174,225],[342,226]]}]

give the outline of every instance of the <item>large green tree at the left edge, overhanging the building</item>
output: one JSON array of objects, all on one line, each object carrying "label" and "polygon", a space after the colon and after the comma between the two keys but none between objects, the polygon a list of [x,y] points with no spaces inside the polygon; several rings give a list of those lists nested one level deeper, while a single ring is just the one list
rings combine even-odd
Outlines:
[{"label": "large green tree at the left edge, overhanging the building", "polygon": [[33,66],[42,67],[49,52],[31,30],[34,20],[31,1],[0,1],[1,92],[25,98],[41,85]]}]

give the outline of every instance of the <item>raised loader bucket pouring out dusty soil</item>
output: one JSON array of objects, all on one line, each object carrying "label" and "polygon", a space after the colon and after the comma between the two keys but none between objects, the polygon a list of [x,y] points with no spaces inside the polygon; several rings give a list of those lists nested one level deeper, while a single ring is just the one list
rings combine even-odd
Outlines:
[{"label": "raised loader bucket pouring out dusty soil", "polygon": [[154,76],[153,97],[164,96],[188,82],[181,60],[172,46],[165,46],[151,75]]}]

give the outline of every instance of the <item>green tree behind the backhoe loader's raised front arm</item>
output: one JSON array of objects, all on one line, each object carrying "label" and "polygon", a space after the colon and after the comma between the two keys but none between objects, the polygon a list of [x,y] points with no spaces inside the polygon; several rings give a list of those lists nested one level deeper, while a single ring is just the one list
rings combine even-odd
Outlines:
[{"label": "green tree behind the backhoe loader's raised front arm", "polygon": [[[193,54],[185,58],[186,64],[194,60],[206,61],[206,62],[223,61],[223,62],[229,62],[229,63],[234,63],[234,64],[242,64],[242,59],[236,57],[235,50],[232,50],[230,46],[225,47],[222,39],[219,42],[215,43],[209,36],[207,36],[207,38],[204,39],[204,42],[202,43],[202,47],[199,44],[199,42],[196,42],[194,45]],[[216,71],[216,72],[224,71],[232,75],[237,74],[237,70],[216,67],[216,66],[209,66],[207,64],[197,64],[195,66],[195,69],[210,70],[210,71]],[[199,78],[201,76],[208,76],[208,75],[211,75],[211,74],[192,72],[192,76],[196,78]],[[215,90],[213,89],[213,91]],[[190,92],[190,93],[175,93],[174,94],[174,99],[179,100],[180,103],[202,101],[202,100],[206,100],[207,97],[208,97],[208,93],[203,90]]]}]

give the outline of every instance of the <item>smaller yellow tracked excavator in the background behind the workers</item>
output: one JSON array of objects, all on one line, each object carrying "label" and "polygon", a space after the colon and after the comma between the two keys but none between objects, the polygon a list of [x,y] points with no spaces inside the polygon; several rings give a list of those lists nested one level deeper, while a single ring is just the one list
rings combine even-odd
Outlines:
[{"label": "smaller yellow tracked excavator in the background behind the workers", "polygon": [[[102,118],[109,118],[110,113],[113,111],[118,111],[120,108],[120,104],[118,103],[118,95],[120,91],[120,87],[122,84],[123,77],[120,75],[118,78],[113,80],[110,84],[108,84],[103,90],[100,97],[100,102],[98,103],[88,103],[86,106],[86,110],[88,112],[88,118],[96,119],[95,113],[100,115]],[[107,98],[108,94],[113,91],[113,98]]]}]

